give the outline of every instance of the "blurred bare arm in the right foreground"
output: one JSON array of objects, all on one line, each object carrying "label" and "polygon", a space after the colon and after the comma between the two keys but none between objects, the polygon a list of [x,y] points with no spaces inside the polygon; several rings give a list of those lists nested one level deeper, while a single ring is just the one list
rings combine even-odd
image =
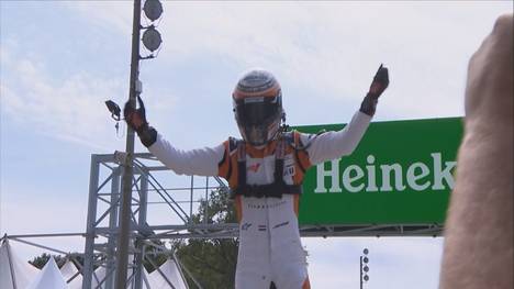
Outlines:
[{"label": "blurred bare arm in the right foreground", "polygon": [[440,288],[513,288],[513,15],[469,62]]}]

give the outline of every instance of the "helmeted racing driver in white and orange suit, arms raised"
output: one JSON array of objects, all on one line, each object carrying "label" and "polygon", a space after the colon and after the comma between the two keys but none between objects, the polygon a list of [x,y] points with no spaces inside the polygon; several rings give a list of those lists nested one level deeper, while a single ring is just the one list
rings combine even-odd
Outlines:
[{"label": "helmeted racing driver in white and orange suit, arms raised", "polygon": [[228,181],[239,222],[236,289],[310,288],[305,251],[298,224],[301,185],[316,164],[349,155],[375,114],[389,85],[379,67],[360,109],[338,132],[304,134],[288,131],[282,91],[269,71],[243,75],[232,93],[242,138],[215,147],[181,151],[148,125],[145,108],[125,104],[127,124],[143,145],[179,175],[220,176]]}]

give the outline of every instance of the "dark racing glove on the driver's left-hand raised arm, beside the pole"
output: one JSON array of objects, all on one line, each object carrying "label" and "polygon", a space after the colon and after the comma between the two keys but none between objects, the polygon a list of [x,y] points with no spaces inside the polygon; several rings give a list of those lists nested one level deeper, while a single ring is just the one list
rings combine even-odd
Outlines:
[{"label": "dark racing glove on the driver's left-hand raised arm, beside the pole", "polygon": [[139,103],[139,108],[134,109],[127,101],[123,109],[123,115],[125,116],[126,124],[137,133],[143,145],[149,147],[157,141],[157,131],[148,125],[145,103],[143,103],[139,96],[137,96],[137,102]]}]

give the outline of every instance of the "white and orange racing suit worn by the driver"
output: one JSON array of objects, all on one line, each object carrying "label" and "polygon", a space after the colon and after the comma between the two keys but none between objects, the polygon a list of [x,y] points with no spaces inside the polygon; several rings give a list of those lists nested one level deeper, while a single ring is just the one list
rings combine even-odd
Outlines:
[{"label": "white and orange racing suit worn by the driver", "polygon": [[[338,132],[293,132],[293,141],[283,152],[286,185],[301,186],[309,167],[351,154],[370,120],[371,116],[356,112],[350,123]],[[246,162],[248,185],[272,184],[277,146],[277,141],[260,148],[246,144],[242,153],[242,146],[228,140],[215,147],[180,151],[158,135],[148,149],[177,174],[220,176],[234,189],[241,179],[237,162],[242,157]],[[271,281],[278,289],[310,288],[306,253],[298,225],[299,200],[300,194],[290,193],[279,198],[235,196],[239,221],[236,289],[269,289]]]}]

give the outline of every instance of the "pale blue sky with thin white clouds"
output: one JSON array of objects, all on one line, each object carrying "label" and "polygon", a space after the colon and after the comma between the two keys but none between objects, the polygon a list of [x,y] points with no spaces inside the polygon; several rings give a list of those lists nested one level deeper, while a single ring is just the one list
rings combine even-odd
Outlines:
[{"label": "pale blue sky with thin white clouds", "polygon": [[[462,115],[469,56],[510,11],[510,1],[166,2],[163,49],[141,66],[148,118],[182,148],[237,136],[230,93],[258,66],[280,80],[290,124],[345,123],[380,63],[391,85],[376,120]],[[130,1],[0,2],[0,234],[85,231],[90,155],[124,149],[103,101],[127,98],[131,21]],[[304,241],[314,288],[356,288],[365,246],[367,288],[435,288],[442,243]]]}]

